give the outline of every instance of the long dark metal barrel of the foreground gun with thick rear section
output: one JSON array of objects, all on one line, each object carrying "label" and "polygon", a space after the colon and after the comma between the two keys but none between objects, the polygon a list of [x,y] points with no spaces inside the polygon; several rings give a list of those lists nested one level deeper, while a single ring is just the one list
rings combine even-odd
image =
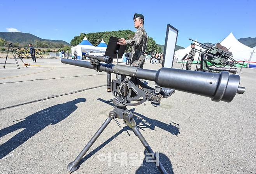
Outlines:
[{"label": "long dark metal barrel of the foreground gun with thick rear section", "polygon": [[[90,62],[72,59],[61,59],[62,63],[94,69]],[[231,102],[236,93],[242,93],[239,87],[240,76],[220,73],[187,71],[173,68],[161,68],[158,71],[130,67],[125,65],[102,64],[97,69],[115,74],[123,74],[156,82],[161,87],[210,97],[212,101]],[[238,90],[239,89],[239,90]]]}]

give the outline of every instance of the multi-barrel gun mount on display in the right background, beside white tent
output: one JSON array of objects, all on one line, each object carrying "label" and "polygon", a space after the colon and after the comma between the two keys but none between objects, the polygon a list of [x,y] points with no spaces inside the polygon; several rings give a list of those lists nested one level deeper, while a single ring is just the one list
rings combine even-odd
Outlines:
[{"label": "multi-barrel gun mount on display in the right background, beside white tent", "polygon": [[[226,47],[217,43],[215,47],[209,47],[203,43],[198,41],[189,39],[198,43],[199,47],[205,49],[204,51],[198,50],[194,48],[197,52],[200,53],[200,67],[198,68],[199,59],[196,64],[196,71],[207,71],[207,72],[220,72],[220,71],[228,71],[236,74],[237,68],[235,64],[240,64],[235,59],[232,58],[232,53],[228,51]],[[207,61],[210,62],[211,65],[207,64]]]}]

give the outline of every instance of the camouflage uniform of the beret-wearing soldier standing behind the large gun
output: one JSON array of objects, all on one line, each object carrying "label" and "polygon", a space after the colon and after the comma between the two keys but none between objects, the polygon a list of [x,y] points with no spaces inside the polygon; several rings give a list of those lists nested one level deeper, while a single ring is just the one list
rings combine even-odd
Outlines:
[{"label": "camouflage uniform of the beret-wearing soldier standing behind the large gun", "polygon": [[147,47],[147,33],[144,27],[138,28],[132,40],[126,40],[126,44],[132,46],[131,66],[143,68],[145,62],[144,53]]}]

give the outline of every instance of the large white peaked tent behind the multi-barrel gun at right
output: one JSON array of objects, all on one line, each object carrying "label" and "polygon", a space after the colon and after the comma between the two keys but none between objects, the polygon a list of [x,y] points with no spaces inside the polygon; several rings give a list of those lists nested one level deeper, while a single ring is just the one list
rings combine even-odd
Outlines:
[{"label": "large white peaked tent behind the multi-barrel gun at right", "polygon": [[232,52],[232,58],[237,60],[238,62],[241,63],[243,61],[250,61],[251,63],[249,64],[249,67],[253,67],[256,65],[256,53],[253,53],[254,49],[239,42],[235,38],[233,33],[230,33],[226,38],[224,38],[224,40],[222,40],[220,44],[228,48],[228,50]]}]

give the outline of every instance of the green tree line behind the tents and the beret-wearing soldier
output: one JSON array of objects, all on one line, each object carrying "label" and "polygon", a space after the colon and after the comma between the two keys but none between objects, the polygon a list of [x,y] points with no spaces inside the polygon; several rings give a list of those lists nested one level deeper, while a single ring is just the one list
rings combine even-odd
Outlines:
[{"label": "green tree line behind the tents and the beret-wearing soldier", "polygon": [[[80,36],[75,36],[74,39],[70,41],[72,46],[78,45],[84,39],[84,36],[89,40],[89,42],[94,45],[95,47],[102,41],[105,41],[106,44],[109,42],[109,38],[111,36],[117,38],[124,38],[125,40],[130,40],[133,38],[135,32],[131,30],[119,30],[119,31],[104,31],[104,32],[97,32],[97,33],[81,33]],[[126,51],[130,52],[131,47],[128,46]],[[150,54],[152,52],[162,52],[161,48],[156,45],[156,41],[153,38],[147,36],[147,49],[146,53]]]}]

